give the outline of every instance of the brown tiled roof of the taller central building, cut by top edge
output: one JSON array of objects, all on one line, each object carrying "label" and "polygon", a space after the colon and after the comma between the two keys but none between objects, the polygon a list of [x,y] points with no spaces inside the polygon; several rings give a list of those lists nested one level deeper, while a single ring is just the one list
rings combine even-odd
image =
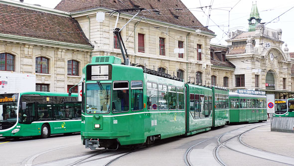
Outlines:
[{"label": "brown tiled roof of the taller central building, cut by top edge", "polygon": [[55,9],[77,12],[100,7],[109,9],[146,8],[148,11],[142,12],[146,18],[214,33],[204,27],[180,0],[61,0]]}]

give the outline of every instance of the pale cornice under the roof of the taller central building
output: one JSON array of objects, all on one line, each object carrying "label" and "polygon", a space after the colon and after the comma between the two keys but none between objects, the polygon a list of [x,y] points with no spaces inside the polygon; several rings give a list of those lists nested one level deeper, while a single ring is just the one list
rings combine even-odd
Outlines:
[{"label": "pale cornice under the roof of the taller central building", "polygon": [[[73,12],[73,13],[71,13],[71,17],[76,18],[76,17],[86,16],[86,15],[96,15],[96,12],[98,12],[98,11],[111,12],[113,10],[108,9],[108,8],[104,8],[104,7],[98,7],[98,8],[92,8],[92,9],[88,9],[88,10]],[[117,15],[114,14],[113,16],[117,16]],[[121,13],[120,16],[124,17],[124,18],[127,18],[127,19],[130,19],[134,15],[128,14],[128,13]],[[136,18],[134,18],[134,20],[139,21],[140,18],[136,17]],[[216,34],[209,33],[209,32],[203,31],[203,30],[200,30],[199,32],[196,32],[196,29],[183,27],[183,26],[180,26],[180,25],[167,23],[167,22],[163,22],[163,21],[159,21],[159,20],[155,20],[155,19],[150,19],[150,18],[146,18],[146,17],[142,21],[147,22],[147,23],[153,23],[153,24],[156,24],[156,25],[161,25],[161,26],[168,27],[168,28],[183,30],[183,31],[193,33],[193,34],[196,34],[196,35],[204,35],[204,36],[208,36],[208,37],[211,37],[211,38],[216,37]]]}]

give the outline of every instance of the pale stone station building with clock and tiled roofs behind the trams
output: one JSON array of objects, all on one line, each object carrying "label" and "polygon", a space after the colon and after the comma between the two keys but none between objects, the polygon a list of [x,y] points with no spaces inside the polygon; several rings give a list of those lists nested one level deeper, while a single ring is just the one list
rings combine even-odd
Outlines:
[{"label": "pale stone station building with clock and tiled roofs behind the trams", "polygon": [[[36,83],[49,85],[49,91],[65,92],[67,87],[64,85],[78,83],[82,67],[89,63],[92,56],[114,55],[122,58],[113,34],[117,13],[110,15],[110,12],[139,7],[147,11],[142,11],[121,31],[130,60],[137,66],[175,75],[185,82],[228,87],[232,91],[285,91],[288,95],[292,91],[292,61],[287,48],[282,50],[282,31],[258,24],[261,18],[256,6],[253,6],[250,14],[250,31],[230,32],[228,46],[223,46],[210,43],[210,39],[215,37],[214,32],[203,26],[180,0],[170,0],[168,4],[159,0],[61,0],[55,9],[10,0],[0,0],[0,3],[29,10],[29,13],[42,13],[40,17],[46,14],[58,17],[44,17],[55,27],[45,28],[38,36],[28,35],[46,26],[37,18],[32,19],[31,24],[39,25],[39,28],[29,33],[0,31],[3,36],[15,35],[14,40],[0,38],[0,53],[15,56],[13,72],[36,74]],[[10,12],[13,13],[12,10]],[[97,20],[97,12],[105,12],[103,21]],[[122,28],[136,12],[121,13],[117,27]],[[31,15],[23,19],[28,18]],[[14,24],[22,25],[16,18],[11,20],[15,21]],[[70,24],[65,27],[64,22]],[[35,42],[23,41],[23,36]],[[270,48],[265,48],[262,43],[270,43]],[[49,73],[38,73],[36,66],[45,63],[40,59],[38,64],[38,57],[50,60]],[[69,75],[69,61],[78,62],[78,75]],[[268,72],[273,73],[269,78],[275,78],[269,79],[270,82],[267,81]],[[275,89],[271,89],[273,85]]]}]

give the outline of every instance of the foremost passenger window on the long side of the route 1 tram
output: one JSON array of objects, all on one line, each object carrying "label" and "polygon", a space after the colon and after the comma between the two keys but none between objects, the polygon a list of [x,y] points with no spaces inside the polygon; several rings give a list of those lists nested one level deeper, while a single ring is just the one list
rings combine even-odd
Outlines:
[{"label": "foremost passenger window on the long side of the route 1 tram", "polygon": [[147,82],[147,109],[157,110],[157,84]]}]

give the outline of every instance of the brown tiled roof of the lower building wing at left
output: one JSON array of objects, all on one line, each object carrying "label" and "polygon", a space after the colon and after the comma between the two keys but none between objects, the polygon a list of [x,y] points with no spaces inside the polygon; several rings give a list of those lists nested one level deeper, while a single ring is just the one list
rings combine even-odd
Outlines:
[{"label": "brown tiled roof of the lower building wing at left", "polygon": [[91,46],[75,19],[14,5],[0,4],[0,33]]}]

